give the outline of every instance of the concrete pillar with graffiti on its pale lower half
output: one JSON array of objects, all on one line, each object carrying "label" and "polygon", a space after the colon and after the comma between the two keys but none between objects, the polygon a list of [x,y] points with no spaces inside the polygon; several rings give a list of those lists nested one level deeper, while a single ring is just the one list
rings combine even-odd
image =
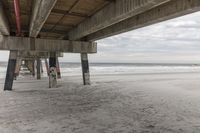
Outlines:
[{"label": "concrete pillar with graffiti on its pale lower half", "polygon": [[57,87],[56,53],[50,53],[49,58],[49,88]]}]

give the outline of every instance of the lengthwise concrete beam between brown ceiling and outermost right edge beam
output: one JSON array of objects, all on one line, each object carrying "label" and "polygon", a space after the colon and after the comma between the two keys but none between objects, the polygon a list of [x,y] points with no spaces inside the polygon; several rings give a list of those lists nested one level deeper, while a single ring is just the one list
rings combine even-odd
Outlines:
[{"label": "lengthwise concrete beam between brown ceiling and outermost right edge beam", "polygon": [[133,17],[169,0],[116,0],[68,33],[69,40],[78,40],[115,23]]}]

